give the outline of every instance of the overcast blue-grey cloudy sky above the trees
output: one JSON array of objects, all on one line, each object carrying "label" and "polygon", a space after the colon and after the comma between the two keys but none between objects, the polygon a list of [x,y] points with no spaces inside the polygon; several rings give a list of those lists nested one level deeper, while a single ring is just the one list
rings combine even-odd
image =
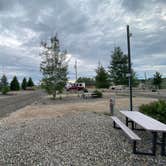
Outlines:
[{"label": "overcast blue-grey cloudy sky above the trees", "polygon": [[166,76],[166,0],[0,0],[0,75],[41,78],[40,41],[58,34],[68,51],[69,78],[92,77],[107,67],[115,46],[131,56],[139,78]]}]

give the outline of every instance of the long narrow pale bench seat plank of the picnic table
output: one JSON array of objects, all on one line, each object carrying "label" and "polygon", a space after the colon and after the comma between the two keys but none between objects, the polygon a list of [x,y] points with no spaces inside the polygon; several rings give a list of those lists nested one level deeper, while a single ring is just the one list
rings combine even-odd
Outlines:
[{"label": "long narrow pale bench seat plank of the picnic table", "polygon": [[136,135],[132,130],[130,130],[124,123],[122,123],[117,117],[111,117],[113,121],[129,136],[132,140],[140,141],[141,138]]}]

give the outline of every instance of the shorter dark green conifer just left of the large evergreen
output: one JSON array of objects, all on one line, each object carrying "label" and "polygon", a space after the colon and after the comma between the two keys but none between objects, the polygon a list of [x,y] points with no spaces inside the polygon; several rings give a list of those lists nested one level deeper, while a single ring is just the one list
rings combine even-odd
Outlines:
[{"label": "shorter dark green conifer just left of the large evergreen", "polygon": [[99,64],[96,69],[96,88],[109,88],[110,80],[107,71],[104,69],[102,65]]}]

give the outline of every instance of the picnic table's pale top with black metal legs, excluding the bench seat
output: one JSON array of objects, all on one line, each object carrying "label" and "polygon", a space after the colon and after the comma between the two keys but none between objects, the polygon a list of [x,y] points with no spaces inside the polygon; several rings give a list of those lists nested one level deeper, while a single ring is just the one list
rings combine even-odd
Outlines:
[{"label": "picnic table's pale top with black metal legs, excluding the bench seat", "polygon": [[[165,155],[166,124],[159,122],[138,111],[120,111],[126,117],[126,125],[132,124],[132,129],[137,130],[134,124],[138,124],[143,129],[152,133],[152,153],[138,152],[138,154],[156,154],[156,146],[161,146],[161,155]],[[161,141],[158,142],[158,133],[162,134]]]}]

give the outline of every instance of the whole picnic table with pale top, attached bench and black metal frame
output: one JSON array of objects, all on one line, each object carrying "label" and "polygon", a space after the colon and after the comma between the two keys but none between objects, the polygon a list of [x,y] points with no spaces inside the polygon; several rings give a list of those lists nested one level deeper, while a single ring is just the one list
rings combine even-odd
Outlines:
[{"label": "whole picnic table with pale top, attached bench and black metal frame", "polygon": [[[164,123],[159,122],[156,119],[153,119],[143,113],[138,111],[120,111],[126,117],[126,125],[123,124],[118,118],[112,117],[114,122],[119,125],[119,127],[133,140],[133,153],[135,154],[144,154],[144,155],[155,155],[156,154],[156,147],[157,145],[161,146],[161,155],[164,156],[165,154],[165,139],[166,139],[166,125]],[[120,122],[119,122],[120,121]],[[141,140],[138,139],[135,133],[133,134],[130,130],[128,130],[129,123],[132,124],[132,130],[145,130],[149,131],[152,134],[152,152],[141,152],[137,150],[136,141]],[[142,129],[137,129],[135,124],[142,127]],[[159,142],[158,133],[161,133],[161,141]]]}]

